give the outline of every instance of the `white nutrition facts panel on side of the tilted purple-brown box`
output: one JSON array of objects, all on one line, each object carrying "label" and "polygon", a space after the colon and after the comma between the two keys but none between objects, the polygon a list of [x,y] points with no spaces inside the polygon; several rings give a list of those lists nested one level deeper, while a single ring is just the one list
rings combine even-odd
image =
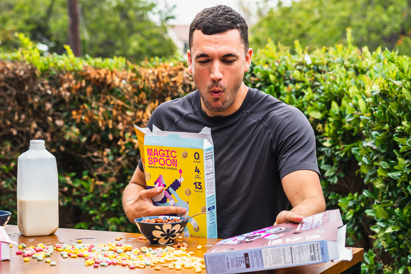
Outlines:
[{"label": "white nutrition facts panel on side of the tilted purple-brown box", "polygon": [[263,249],[264,267],[321,262],[320,243]]}]

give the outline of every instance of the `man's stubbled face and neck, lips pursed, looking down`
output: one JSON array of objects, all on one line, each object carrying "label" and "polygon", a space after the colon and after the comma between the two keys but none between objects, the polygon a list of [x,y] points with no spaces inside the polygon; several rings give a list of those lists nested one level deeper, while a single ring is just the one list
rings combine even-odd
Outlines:
[{"label": "man's stubbled face and neck, lips pursed, looking down", "polygon": [[[189,71],[200,92],[202,107],[207,108],[203,110],[209,116],[229,115],[241,106],[245,95],[237,93],[244,72],[250,68],[251,55],[252,49],[245,54],[236,29],[213,35],[194,31],[188,51]],[[244,87],[240,89],[243,93]]]}]

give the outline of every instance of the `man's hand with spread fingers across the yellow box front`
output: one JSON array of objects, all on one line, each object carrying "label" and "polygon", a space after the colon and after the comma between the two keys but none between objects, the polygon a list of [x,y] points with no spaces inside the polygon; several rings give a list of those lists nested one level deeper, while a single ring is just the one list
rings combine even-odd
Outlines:
[{"label": "man's hand with spread fingers across the yellow box front", "polygon": [[127,201],[124,205],[124,211],[128,220],[134,222],[134,219],[140,217],[159,216],[162,214],[184,214],[185,209],[181,207],[153,205],[151,199],[163,190],[164,187],[141,190],[136,199]]}]

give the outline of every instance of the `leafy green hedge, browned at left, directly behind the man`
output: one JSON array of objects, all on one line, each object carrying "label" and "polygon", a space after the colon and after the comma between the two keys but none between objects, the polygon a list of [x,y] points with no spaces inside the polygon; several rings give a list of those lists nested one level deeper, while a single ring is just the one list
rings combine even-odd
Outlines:
[{"label": "leafy green hedge, browned at left, directly behind the man", "polygon": [[[409,57],[360,50],[349,32],[347,38],[346,47],[312,52],[296,42],[296,54],[269,43],[256,52],[245,82],[307,115],[327,207],[341,209],[347,245],[364,247],[362,273],[409,273]],[[144,126],[158,104],[194,90],[184,64],[82,60],[70,51],[44,57],[29,41],[0,58],[0,206],[15,222],[17,156],[33,137],[45,138],[68,212],[61,223],[136,231],[120,203],[139,159],[132,124]]]}]

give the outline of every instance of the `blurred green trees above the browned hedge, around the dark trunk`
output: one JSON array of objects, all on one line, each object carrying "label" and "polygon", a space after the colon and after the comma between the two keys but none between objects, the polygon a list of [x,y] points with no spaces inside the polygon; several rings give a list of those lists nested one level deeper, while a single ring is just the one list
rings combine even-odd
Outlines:
[{"label": "blurred green trees above the browned hedge, around the dark trunk", "polygon": [[[79,0],[83,55],[124,56],[137,62],[145,57],[172,57],[175,45],[165,34],[171,10],[157,11],[152,1]],[[156,14],[160,22],[149,17]],[[0,46],[21,46],[13,35],[24,33],[48,52],[66,52],[68,12],[66,0],[2,0],[0,2]]]}]

